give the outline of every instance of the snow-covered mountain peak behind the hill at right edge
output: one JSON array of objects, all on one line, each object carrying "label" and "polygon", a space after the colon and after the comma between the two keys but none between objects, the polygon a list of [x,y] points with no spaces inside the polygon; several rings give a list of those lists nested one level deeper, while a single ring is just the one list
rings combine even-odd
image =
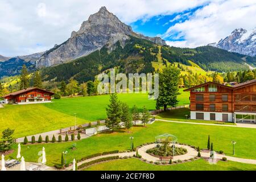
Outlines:
[{"label": "snow-covered mountain peak behind the hill at right edge", "polygon": [[256,55],[256,30],[247,31],[243,28],[235,29],[225,39],[221,39],[217,44],[209,44],[217,48],[230,52],[237,52],[243,55]]}]

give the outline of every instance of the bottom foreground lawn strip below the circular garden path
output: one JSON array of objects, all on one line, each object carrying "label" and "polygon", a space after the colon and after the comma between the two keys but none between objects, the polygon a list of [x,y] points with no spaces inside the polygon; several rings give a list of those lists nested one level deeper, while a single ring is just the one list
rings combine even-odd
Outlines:
[{"label": "bottom foreground lawn strip below the circular garden path", "polygon": [[84,168],[84,171],[238,171],[238,170],[256,170],[254,164],[244,164],[232,161],[219,161],[217,164],[209,164],[204,159],[195,160],[175,165],[154,165],[144,163],[139,159],[119,159],[95,164]]}]

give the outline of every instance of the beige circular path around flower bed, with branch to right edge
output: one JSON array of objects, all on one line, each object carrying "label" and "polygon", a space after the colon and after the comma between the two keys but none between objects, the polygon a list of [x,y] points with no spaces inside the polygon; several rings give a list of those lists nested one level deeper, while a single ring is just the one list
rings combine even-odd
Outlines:
[{"label": "beige circular path around flower bed, with branch to right edge", "polygon": [[[160,162],[159,158],[156,158],[156,157],[146,153],[146,151],[148,149],[154,148],[154,147],[156,147],[156,145],[157,145],[156,143],[148,144],[146,146],[143,146],[143,147],[139,148],[139,150],[138,150],[139,155],[141,155],[143,159],[147,159],[148,161]],[[191,159],[191,158],[195,158],[198,154],[198,152],[190,146],[185,146],[185,145],[180,145],[180,144],[175,144],[175,146],[186,148],[188,152],[187,152],[187,154],[184,154],[184,155],[174,156],[173,161],[174,160],[188,160],[188,159]],[[201,154],[201,157],[204,157],[204,158],[209,158],[209,156],[210,156],[210,152],[200,152],[200,154]],[[228,160],[232,160],[234,162],[247,163],[247,164],[256,164],[255,159],[235,158],[235,157],[232,157],[232,156],[226,156],[226,155],[222,155],[222,154],[216,154],[215,155],[216,159],[222,159],[223,157],[227,158]]]}]

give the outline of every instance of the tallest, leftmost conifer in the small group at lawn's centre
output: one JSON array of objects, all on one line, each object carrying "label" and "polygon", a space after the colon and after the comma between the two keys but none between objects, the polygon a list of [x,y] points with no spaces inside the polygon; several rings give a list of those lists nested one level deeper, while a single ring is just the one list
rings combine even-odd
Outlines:
[{"label": "tallest, leftmost conifer in the small group at lawn's centre", "polygon": [[119,127],[119,123],[121,122],[122,117],[122,107],[121,102],[117,100],[117,94],[111,94],[110,95],[110,104],[106,108],[106,127],[112,130],[114,132],[114,129],[117,129]]}]

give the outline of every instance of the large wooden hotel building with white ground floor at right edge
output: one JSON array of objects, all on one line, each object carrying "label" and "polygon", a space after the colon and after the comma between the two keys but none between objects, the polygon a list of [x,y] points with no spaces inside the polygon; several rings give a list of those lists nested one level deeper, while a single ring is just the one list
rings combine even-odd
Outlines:
[{"label": "large wooden hotel building with white ground floor at right edge", "polygon": [[205,82],[184,91],[190,92],[191,119],[256,123],[256,79],[233,86]]}]

